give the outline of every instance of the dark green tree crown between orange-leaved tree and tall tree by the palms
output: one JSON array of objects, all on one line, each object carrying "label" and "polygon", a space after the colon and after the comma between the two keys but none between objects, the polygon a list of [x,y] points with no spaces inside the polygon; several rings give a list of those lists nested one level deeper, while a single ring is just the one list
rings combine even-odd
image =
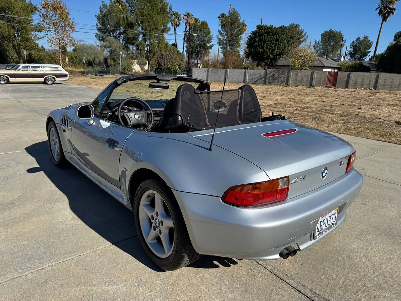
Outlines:
[{"label": "dark green tree crown between orange-leaved tree and tall tree by the palms", "polygon": [[136,46],[138,42],[138,22],[126,2],[110,0],[107,5],[104,1],[99,7],[99,14],[95,15],[96,39],[104,42],[106,37],[118,40],[126,47]]}]

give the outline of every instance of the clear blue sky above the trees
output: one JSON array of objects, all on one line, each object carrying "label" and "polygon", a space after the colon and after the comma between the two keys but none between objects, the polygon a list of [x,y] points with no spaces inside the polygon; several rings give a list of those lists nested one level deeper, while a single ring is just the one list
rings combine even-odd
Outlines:
[{"label": "clear blue sky above the trees", "polygon": [[[143,0],[146,1],[146,0]],[[32,0],[34,4],[39,4],[40,0]],[[77,23],[76,27],[95,28],[95,14],[99,12],[101,0],[64,0],[70,9],[71,16]],[[106,1],[108,2],[108,1]],[[260,24],[263,17],[263,24],[273,24],[274,26],[288,25],[290,23],[299,23],[308,33],[310,41],[320,39],[320,34],[325,29],[333,28],[341,31],[346,39],[345,45],[348,45],[356,37],[368,35],[373,41],[370,55],[373,55],[377,34],[381,18],[377,15],[375,8],[379,0],[352,0],[352,1],[263,1],[263,0],[247,0],[247,1],[168,1],[172,5],[173,10],[178,10],[181,14],[186,11],[191,12],[195,17],[206,20],[213,34],[213,43],[216,43],[217,30],[219,29],[217,16],[221,12],[228,13],[229,5],[235,8],[241,18],[245,20],[248,33]],[[385,50],[390,41],[393,40],[394,34],[401,31],[401,2],[397,5],[398,12],[391,16],[390,20],[385,22],[383,31],[379,41],[378,53]],[[78,25],[79,24],[79,25]],[[87,25],[81,25],[87,24]],[[93,26],[93,27],[92,27]],[[170,26],[171,27],[171,26]],[[96,41],[95,29],[78,29],[77,31],[87,31],[91,33],[74,33],[75,39],[83,39],[88,43]],[[177,32],[183,32],[182,24]],[[173,30],[171,30],[173,32]],[[174,43],[174,35],[166,36],[170,43]],[[182,35],[177,35],[178,49],[182,49]],[[40,41],[41,45],[47,47],[46,39]],[[181,48],[180,48],[181,47]],[[213,50],[217,51],[215,45]],[[343,53],[345,51],[345,46]],[[370,56],[369,55],[369,56]],[[369,57],[368,57],[369,58]]]}]

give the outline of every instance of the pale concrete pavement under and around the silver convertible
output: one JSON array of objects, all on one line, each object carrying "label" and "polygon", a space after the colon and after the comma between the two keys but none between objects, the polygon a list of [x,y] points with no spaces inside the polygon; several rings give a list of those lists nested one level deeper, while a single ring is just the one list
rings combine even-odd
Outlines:
[{"label": "pale concrete pavement under and around the silver convertible", "polygon": [[336,231],[295,257],[203,256],[163,273],[129,210],[50,159],[47,113],[98,92],[0,86],[0,300],[401,300],[400,145],[339,135],[356,148],[362,191]]}]

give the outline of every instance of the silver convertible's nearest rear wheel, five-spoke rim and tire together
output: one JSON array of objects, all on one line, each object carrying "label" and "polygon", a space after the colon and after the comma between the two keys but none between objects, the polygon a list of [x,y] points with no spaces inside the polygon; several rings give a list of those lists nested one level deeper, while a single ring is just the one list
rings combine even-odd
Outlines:
[{"label": "silver convertible's nearest rear wheel, five-spoke rim and tire together", "polygon": [[133,209],[138,239],[154,264],[164,270],[176,270],[201,256],[190,242],[184,219],[168,187],[153,179],[142,182]]}]

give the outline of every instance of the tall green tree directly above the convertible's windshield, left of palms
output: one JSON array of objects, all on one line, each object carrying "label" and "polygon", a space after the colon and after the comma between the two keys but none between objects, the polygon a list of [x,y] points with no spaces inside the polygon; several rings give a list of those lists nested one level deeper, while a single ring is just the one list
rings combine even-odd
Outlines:
[{"label": "tall green tree directly above the convertible's windshield, left of palms", "polygon": [[[141,29],[141,41],[148,60],[148,72],[152,61],[166,47],[164,33],[170,31],[171,6],[166,0],[127,0],[131,14],[136,16]],[[156,62],[154,62],[156,63]]]}]

